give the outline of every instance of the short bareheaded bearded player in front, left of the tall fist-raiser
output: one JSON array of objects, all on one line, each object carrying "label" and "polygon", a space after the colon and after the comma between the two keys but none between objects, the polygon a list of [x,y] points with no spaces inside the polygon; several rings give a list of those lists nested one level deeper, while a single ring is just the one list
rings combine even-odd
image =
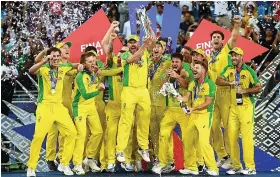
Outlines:
[{"label": "short bareheaded bearded player in front, left of the tall fist-raiser", "polygon": [[187,158],[185,169],[179,170],[182,174],[198,175],[197,158],[194,151],[195,141],[198,140],[208,167],[207,174],[211,176],[219,175],[214,151],[209,143],[216,85],[207,76],[207,70],[207,60],[196,60],[193,70],[195,80],[189,84],[187,94],[184,97],[178,97],[179,101],[191,101],[189,108],[189,114],[191,115],[188,118],[185,131],[182,132],[183,136],[184,133],[188,136],[187,143],[184,144],[184,155]]}]

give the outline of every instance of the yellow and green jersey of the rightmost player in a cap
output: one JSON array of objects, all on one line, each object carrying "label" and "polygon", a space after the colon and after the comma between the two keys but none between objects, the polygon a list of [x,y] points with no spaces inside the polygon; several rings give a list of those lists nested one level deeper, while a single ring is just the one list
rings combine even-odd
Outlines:
[{"label": "yellow and green jersey of the rightmost player in a cap", "polygon": [[[241,89],[251,88],[257,83],[260,83],[255,71],[247,66],[246,64],[242,65],[242,69],[239,72],[240,74],[240,87]],[[221,72],[221,76],[227,79],[229,82],[235,81],[236,70],[233,65],[228,65]],[[236,88],[231,88],[231,104],[236,104]],[[254,104],[255,98],[251,94],[242,94],[243,105]]]}]

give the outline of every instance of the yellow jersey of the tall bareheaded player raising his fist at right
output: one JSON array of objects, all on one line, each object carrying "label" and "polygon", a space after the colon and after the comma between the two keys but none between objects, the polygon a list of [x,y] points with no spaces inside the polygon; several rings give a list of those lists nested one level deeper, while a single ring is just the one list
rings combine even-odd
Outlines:
[{"label": "yellow jersey of the tall bareheaded player raising his fist at right", "polygon": [[[222,72],[223,68],[225,68],[227,65],[231,64],[231,58],[229,55],[231,48],[229,44],[227,43],[219,52],[219,54],[215,56],[215,54],[211,54],[209,58],[209,65],[208,65],[208,73],[210,76],[210,79],[216,82],[217,77],[220,75]],[[213,59],[212,59],[213,57]],[[228,86],[218,86],[217,88],[225,88],[229,89]]]}]

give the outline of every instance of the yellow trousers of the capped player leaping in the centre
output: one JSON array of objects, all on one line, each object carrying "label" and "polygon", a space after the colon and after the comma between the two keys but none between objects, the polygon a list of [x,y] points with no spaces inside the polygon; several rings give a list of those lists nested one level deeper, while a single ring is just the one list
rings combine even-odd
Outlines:
[{"label": "yellow trousers of the capped player leaping in the centre", "polygon": [[151,101],[147,88],[124,87],[121,94],[121,118],[117,136],[117,152],[124,152],[128,144],[131,128],[135,120],[135,106],[143,112],[136,122],[137,142],[141,149],[149,149],[149,127],[151,115]]}]

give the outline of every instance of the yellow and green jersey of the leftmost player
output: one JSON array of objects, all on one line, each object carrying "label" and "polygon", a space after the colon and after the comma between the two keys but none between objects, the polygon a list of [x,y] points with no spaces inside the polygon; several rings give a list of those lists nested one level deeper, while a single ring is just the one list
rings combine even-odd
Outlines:
[{"label": "yellow and green jersey of the leftmost player", "polygon": [[52,94],[52,84],[50,75],[50,64],[47,63],[38,71],[38,103],[62,103],[62,91],[64,87],[64,79],[66,73],[72,70],[71,63],[59,64],[58,70],[54,70],[54,75],[57,76],[57,83],[55,87],[55,93]]}]

